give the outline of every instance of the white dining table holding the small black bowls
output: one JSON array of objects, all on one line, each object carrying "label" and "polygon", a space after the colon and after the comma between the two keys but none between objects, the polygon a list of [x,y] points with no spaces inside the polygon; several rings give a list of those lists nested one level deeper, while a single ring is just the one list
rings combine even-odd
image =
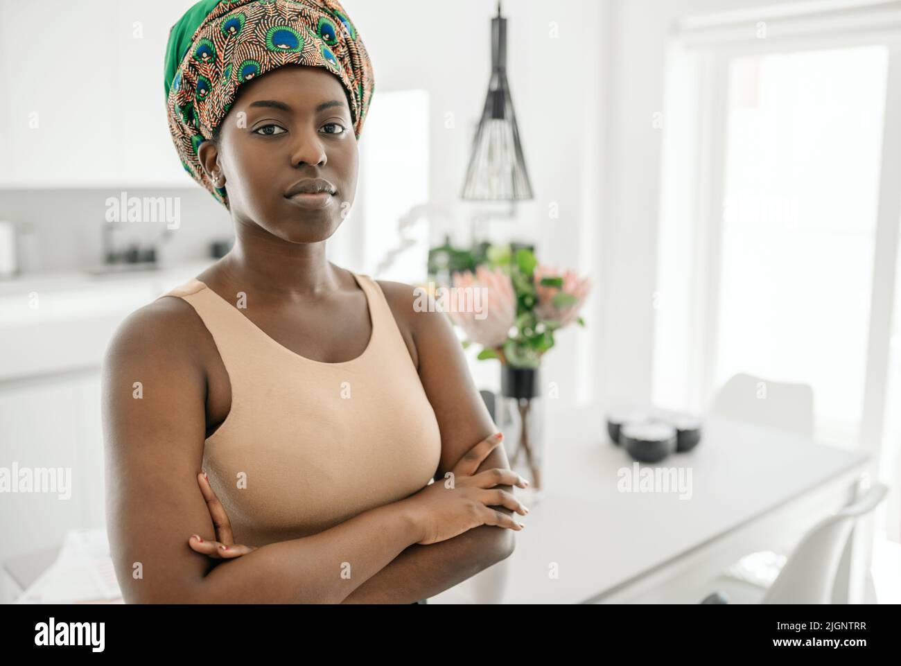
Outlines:
[{"label": "white dining table holding the small black bowls", "polygon": [[[691,470],[690,498],[621,492],[619,470],[633,460],[609,442],[604,415],[597,405],[548,417],[545,495],[517,516],[526,526],[513,555],[429,603],[620,603],[674,580],[703,588],[743,554],[796,542],[848,504],[869,458],[707,417],[696,449],[658,463]],[[851,547],[848,557],[840,601],[860,575]]]}]

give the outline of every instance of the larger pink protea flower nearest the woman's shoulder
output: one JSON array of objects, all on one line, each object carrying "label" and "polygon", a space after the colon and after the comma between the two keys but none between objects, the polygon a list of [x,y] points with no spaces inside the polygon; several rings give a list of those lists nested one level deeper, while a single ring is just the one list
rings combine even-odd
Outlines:
[{"label": "larger pink protea flower nearest the woman's shoulder", "polygon": [[[458,293],[458,303],[476,305],[448,308],[451,320],[463,329],[469,342],[486,349],[504,344],[516,322],[516,294],[510,277],[501,269],[477,266],[476,275],[471,270],[454,273],[453,286],[458,290],[468,289]],[[479,294],[476,294],[477,289],[481,290]]]}]

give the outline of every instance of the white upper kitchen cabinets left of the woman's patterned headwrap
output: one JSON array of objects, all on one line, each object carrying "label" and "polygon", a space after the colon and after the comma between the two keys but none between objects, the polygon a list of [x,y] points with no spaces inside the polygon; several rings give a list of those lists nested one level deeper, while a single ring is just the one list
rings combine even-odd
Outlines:
[{"label": "white upper kitchen cabinets left of the woman's patterned headwrap", "polygon": [[[166,123],[181,0],[0,0],[0,188],[191,187]],[[40,35],[36,38],[35,35]]]}]

